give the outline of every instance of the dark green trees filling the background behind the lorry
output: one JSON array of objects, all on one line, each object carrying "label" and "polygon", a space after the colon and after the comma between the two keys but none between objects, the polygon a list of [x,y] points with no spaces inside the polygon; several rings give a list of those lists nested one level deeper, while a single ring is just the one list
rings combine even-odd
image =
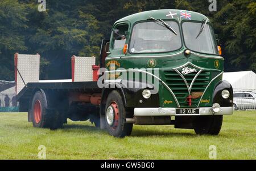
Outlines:
[{"label": "dark green trees filling the background behind the lorry", "polygon": [[113,23],[136,12],[178,8],[207,15],[225,57],[225,71],[256,71],[256,2],[217,0],[0,0],[0,80],[14,80],[14,53],[41,55],[41,79],[71,78],[71,56],[99,56]]}]

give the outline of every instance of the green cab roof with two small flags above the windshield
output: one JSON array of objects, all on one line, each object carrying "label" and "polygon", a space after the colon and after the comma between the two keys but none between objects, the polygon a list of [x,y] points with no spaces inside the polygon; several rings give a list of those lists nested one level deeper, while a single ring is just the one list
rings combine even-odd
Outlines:
[{"label": "green cab roof with two small flags above the windshield", "polygon": [[133,25],[136,22],[147,20],[150,16],[155,19],[174,19],[177,20],[177,22],[183,20],[196,20],[201,22],[202,20],[208,19],[203,14],[187,10],[152,10],[126,16],[125,18],[119,19],[115,24],[128,21]]}]

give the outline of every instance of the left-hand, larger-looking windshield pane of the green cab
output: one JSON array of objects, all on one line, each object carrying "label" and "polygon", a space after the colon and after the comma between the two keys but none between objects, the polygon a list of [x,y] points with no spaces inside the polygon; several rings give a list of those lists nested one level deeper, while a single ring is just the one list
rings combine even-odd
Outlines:
[{"label": "left-hand, larger-looking windshield pane of the green cab", "polygon": [[166,22],[174,31],[159,22],[138,23],[133,28],[130,41],[130,53],[171,52],[181,48],[179,25]]}]

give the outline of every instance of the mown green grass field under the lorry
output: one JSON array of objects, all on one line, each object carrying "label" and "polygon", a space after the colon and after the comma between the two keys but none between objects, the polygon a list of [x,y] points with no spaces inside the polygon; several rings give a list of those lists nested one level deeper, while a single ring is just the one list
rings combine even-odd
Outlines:
[{"label": "mown green grass field under the lorry", "polygon": [[174,126],[134,126],[131,136],[109,136],[89,122],[68,121],[61,130],[36,129],[26,113],[0,113],[0,159],[256,159],[256,112],[225,116],[218,136],[199,136]]}]

